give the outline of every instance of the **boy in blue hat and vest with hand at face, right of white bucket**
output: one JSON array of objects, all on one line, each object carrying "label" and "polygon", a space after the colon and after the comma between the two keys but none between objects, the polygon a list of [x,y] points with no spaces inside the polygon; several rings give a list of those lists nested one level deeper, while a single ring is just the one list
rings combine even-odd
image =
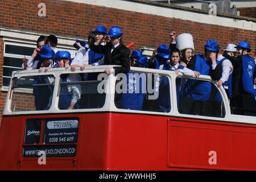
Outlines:
[{"label": "boy in blue hat and vest with hand at face, right of white bucket", "polygon": [[[198,72],[198,75],[209,75],[212,63],[216,62],[220,47],[216,40],[207,40],[204,46],[204,55],[195,55],[189,61],[187,67]],[[181,101],[180,112],[184,114],[212,115],[209,102],[211,84],[207,81],[188,80],[184,86],[184,98]]]}]

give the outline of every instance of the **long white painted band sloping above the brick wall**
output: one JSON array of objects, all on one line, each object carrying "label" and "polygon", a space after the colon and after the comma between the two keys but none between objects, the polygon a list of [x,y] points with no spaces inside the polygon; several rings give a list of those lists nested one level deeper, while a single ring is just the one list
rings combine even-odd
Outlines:
[{"label": "long white painted band sloping above the brick wall", "polygon": [[154,14],[165,16],[168,18],[180,18],[183,20],[191,20],[193,22],[216,24],[219,26],[241,28],[245,30],[256,30],[256,22],[233,19],[229,17],[210,16],[195,11],[185,11],[180,9],[172,9],[171,7],[159,7],[150,4],[129,2],[122,0],[64,0],[79,3],[86,3],[89,5],[112,7],[120,10],[135,11],[138,13]]}]

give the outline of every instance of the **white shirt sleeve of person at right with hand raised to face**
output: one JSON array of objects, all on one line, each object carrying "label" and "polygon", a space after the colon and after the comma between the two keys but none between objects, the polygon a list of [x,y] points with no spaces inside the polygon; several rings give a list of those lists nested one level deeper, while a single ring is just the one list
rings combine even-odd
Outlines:
[{"label": "white shirt sleeve of person at right with hand raised to face", "polygon": [[[217,60],[220,61],[224,59],[224,56],[220,55],[218,56]],[[215,69],[217,67],[217,64],[212,64],[212,69]],[[221,64],[222,67],[222,75],[220,80],[222,82],[228,81],[229,80],[229,75],[233,72],[233,65],[230,62],[230,60],[226,59],[222,62]]]}]

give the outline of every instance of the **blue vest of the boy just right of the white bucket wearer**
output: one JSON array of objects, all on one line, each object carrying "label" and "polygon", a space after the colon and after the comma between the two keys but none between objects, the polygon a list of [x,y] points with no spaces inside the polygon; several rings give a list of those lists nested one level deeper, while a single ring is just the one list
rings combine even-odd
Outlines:
[{"label": "blue vest of the boy just right of the white bucket wearer", "polygon": [[[209,74],[210,63],[208,63],[203,55],[196,55],[195,71],[200,75]],[[207,101],[210,98],[211,84],[208,81],[189,79],[185,85],[185,96],[195,101]]]}]

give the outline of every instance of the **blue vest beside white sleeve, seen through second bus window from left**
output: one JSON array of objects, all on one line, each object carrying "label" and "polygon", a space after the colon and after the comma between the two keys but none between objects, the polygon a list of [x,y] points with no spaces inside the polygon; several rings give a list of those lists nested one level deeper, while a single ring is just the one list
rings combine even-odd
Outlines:
[{"label": "blue vest beside white sleeve, seen through second bus window from left", "polygon": [[[61,77],[61,82],[67,82],[68,75]],[[59,97],[59,109],[68,109],[72,100],[72,92],[68,92],[68,85],[61,85],[60,97]],[[79,105],[76,103],[75,109],[79,109]]]}]

